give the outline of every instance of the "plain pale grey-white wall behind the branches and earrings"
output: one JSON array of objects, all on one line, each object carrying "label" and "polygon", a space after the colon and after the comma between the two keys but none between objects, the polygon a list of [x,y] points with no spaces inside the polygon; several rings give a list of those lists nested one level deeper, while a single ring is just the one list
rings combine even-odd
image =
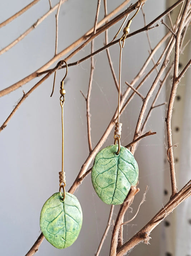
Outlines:
[{"label": "plain pale grey-white wall behind the branches and earrings", "polygon": [[[122,1],[108,1],[111,12]],[[147,1],[144,5],[147,23],[161,14],[165,1]],[[1,1],[0,22],[13,15],[30,0]],[[52,5],[57,1],[52,1]],[[94,25],[97,0],[67,1],[61,6],[59,14],[58,52],[78,39]],[[41,0],[31,10],[24,13],[0,30],[0,47],[4,48],[29,26],[37,21],[49,9],[48,0]],[[55,14],[50,15],[24,40],[10,51],[0,56],[0,89],[37,70],[54,55]],[[103,3],[99,19],[104,17]],[[120,23],[121,24],[121,23]],[[109,30],[109,40],[113,39],[120,24]],[[140,12],[131,25],[131,31],[143,27]],[[154,47],[164,35],[165,28],[160,26],[149,32]],[[95,50],[103,46],[104,36],[95,40]],[[146,33],[140,33],[126,40],[122,60],[122,84],[130,82],[148,56]],[[162,50],[161,50],[162,51]],[[73,57],[68,63],[76,61],[90,53],[90,45]],[[118,76],[119,45],[110,48],[114,68]],[[160,52],[158,53],[158,55]],[[95,57],[95,73],[91,95],[91,134],[92,145],[96,145],[104,133],[117,107],[117,91],[110,72],[106,52]],[[151,66],[150,66],[151,67]],[[147,69],[149,70],[149,68]],[[58,172],[61,170],[61,108],[59,105],[59,84],[65,71],[57,72],[56,88],[52,98],[53,76],[46,80],[30,95],[6,129],[0,134],[1,148],[1,186],[0,186],[0,241],[2,255],[25,255],[40,234],[39,216],[43,203],[58,191]],[[75,67],[69,67],[66,82],[65,111],[65,171],[67,186],[70,188],[89,151],[87,144],[86,104],[80,90],[86,95],[90,76],[90,60]],[[4,122],[14,105],[40,78],[24,85],[0,100],[0,121]],[[143,95],[151,86],[152,79],[140,90]],[[164,93],[158,103],[165,101]],[[142,102],[138,96],[128,105],[121,116],[123,122],[121,144],[126,145],[133,139],[134,129]],[[156,108],[149,119],[147,129],[156,131],[157,135],[144,138],[138,146],[135,158],[139,164],[139,188],[133,213],[128,212],[125,220],[137,211],[146,185],[149,186],[146,202],[141,206],[136,219],[125,228],[124,241],[151,219],[163,203],[163,160],[164,160],[164,107]],[[104,144],[113,144],[113,131]],[[90,175],[75,192],[83,210],[83,225],[77,241],[69,248],[59,250],[46,239],[37,255],[94,255],[106,227],[110,206],[102,203],[94,192]],[[119,210],[117,206],[113,218]],[[161,224],[163,225],[163,224]],[[152,232],[151,244],[140,244],[129,253],[135,255],[160,255],[161,225]],[[111,230],[100,253],[109,254]]]}]

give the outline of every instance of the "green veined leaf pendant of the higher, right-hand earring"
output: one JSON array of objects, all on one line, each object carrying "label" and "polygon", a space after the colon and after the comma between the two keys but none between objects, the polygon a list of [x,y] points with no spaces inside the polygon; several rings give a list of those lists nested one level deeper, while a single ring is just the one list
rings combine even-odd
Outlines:
[{"label": "green veined leaf pendant of the higher, right-hand earring", "polygon": [[138,165],[133,154],[121,146],[110,145],[97,153],[91,172],[94,189],[108,205],[120,205],[125,200],[131,185],[138,181]]}]

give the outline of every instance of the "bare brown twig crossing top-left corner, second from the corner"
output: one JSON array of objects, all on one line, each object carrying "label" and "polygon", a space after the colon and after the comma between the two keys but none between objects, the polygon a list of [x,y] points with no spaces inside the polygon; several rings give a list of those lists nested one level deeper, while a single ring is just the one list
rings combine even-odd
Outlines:
[{"label": "bare brown twig crossing top-left corner, second from the corner", "polygon": [[[62,4],[65,3],[67,0],[62,0]],[[0,55],[5,53],[6,51],[10,50],[13,46],[15,46],[18,42],[20,42],[25,36],[27,36],[31,31],[33,31],[44,19],[48,17],[54,10],[57,9],[59,4],[56,4],[52,9],[50,9],[46,14],[44,14],[41,18],[37,20],[28,30],[26,30],[22,35],[20,35],[17,39],[7,45],[5,48],[0,50]]]}]

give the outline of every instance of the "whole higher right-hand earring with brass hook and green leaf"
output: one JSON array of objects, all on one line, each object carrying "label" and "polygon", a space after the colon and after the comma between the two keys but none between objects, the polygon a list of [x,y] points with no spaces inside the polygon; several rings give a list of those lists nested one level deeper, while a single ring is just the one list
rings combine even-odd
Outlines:
[{"label": "whole higher right-hand earring with brass hook and green leaf", "polygon": [[[138,13],[142,5],[139,5]],[[131,185],[136,185],[138,181],[138,165],[133,154],[124,147],[121,147],[121,127],[120,117],[120,99],[121,99],[121,58],[122,49],[124,48],[125,39],[132,23],[130,19],[123,29],[123,36],[119,40],[120,57],[119,57],[119,90],[118,90],[118,116],[115,123],[114,145],[102,149],[95,157],[92,167],[91,179],[93,187],[100,199],[107,204],[120,205],[124,202]],[[126,21],[126,19],[125,19]],[[123,23],[124,24],[124,23]],[[114,37],[118,36],[121,28]],[[118,142],[118,145],[115,145]]]}]

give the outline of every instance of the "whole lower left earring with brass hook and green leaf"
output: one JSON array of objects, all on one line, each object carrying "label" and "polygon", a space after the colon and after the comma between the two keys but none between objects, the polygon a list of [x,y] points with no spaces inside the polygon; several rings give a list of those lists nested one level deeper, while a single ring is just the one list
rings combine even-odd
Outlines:
[{"label": "whole lower left earring with brass hook and green leaf", "polygon": [[[68,66],[66,64],[66,75]],[[65,191],[66,176],[64,172],[64,123],[63,106],[65,103],[64,79],[60,86],[60,105],[62,108],[62,171],[59,172],[59,192],[53,194],[43,205],[40,213],[40,229],[49,243],[63,249],[76,241],[82,226],[82,209],[78,199]],[[55,81],[56,72],[54,75]],[[53,85],[54,90],[54,85]],[[53,91],[52,91],[53,94]],[[51,96],[52,96],[51,94]]]}]

